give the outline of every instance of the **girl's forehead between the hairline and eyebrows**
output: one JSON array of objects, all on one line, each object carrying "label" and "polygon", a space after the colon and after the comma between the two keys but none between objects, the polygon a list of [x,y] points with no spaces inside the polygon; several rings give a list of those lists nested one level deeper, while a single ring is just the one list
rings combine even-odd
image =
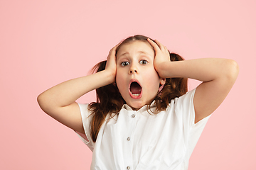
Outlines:
[{"label": "girl's forehead between the hairline and eyebrows", "polygon": [[149,44],[149,42],[134,40],[122,45],[117,52],[117,57],[132,53],[144,53],[154,56],[153,47]]}]

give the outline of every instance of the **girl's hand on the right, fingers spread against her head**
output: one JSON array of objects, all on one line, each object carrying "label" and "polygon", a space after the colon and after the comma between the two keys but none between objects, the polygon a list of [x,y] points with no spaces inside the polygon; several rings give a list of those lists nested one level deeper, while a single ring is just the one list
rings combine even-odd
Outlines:
[{"label": "girl's hand on the right, fingers spread against her head", "polygon": [[154,68],[156,69],[156,72],[158,72],[161,78],[166,78],[161,76],[161,64],[163,64],[164,62],[171,62],[169,50],[158,40],[154,40],[155,42],[150,40],[149,38],[147,40],[154,47],[154,51],[156,52],[154,58]]}]

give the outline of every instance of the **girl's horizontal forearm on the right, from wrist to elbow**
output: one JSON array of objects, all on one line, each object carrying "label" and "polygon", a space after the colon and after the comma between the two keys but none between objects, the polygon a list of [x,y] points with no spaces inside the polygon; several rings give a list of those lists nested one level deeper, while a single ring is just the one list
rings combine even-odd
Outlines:
[{"label": "girl's horizontal forearm on the right, from wrist to elbow", "polygon": [[238,64],[233,60],[205,58],[178,62],[164,62],[159,67],[160,77],[186,77],[199,81],[213,81],[237,77]]}]

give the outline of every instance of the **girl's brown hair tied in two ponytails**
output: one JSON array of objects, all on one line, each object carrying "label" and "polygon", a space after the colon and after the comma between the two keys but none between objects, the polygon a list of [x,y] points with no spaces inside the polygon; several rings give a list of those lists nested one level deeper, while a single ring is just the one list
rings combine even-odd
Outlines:
[{"label": "girl's brown hair tied in two ponytails", "polygon": [[[119,48],[134,40],[141,40],[144,42],[147,41],[146,36],[144,35],[134,35],[122,41],[122,43],[117,47],[116,53]],[[151,39],[152,40],[152,39]],[[177,55],[176,53],[170,53],[171,61],[181,61],[183,57]],[[102,61],[95,65],[92,68],[92,72],[100,72],[105,69],[107,61]],[[156,103],[155,114],[160,111],[165,111],[171,99],[182,96],[188,91],[187,86],[188,79],[186,78],[166,78],[166,83],[164,87],[156,94],[154,101]],[[97,101],[89,104],[89,110],[92,111],[92,121],[90,124],[91,127],[91,137],[92,141],[96,142],[97,134],[100,131],[101,125],[104,123],[105,118],[108,114],[118,114],[121,110],[124,103],[124,98],[122,98],[119,90],[115,84],[109,84],[107,86],[102,86],[99,89],[96,89]]]}]

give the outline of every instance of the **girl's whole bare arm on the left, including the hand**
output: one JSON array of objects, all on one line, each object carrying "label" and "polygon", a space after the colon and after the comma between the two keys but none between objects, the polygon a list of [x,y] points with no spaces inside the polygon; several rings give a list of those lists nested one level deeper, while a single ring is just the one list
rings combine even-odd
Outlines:
[{"label": "girl's whole bare arm on the left, including the hand", "polygon": [[75,101],[87,92],[115,81],[116,47],[117,45],[110,50],[106,69],[102,72],[65,81],[40,94],[37,99],[42,110],[63,125],[85,133],[82,127],[80,109]]}]

